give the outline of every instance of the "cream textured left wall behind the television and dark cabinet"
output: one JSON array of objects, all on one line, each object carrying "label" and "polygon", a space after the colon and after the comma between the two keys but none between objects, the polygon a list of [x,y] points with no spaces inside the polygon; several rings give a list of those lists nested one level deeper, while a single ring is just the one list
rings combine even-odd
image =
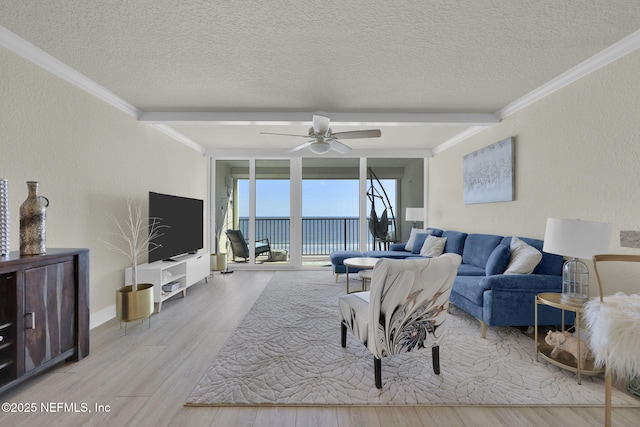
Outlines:
[{"label": "cream textured left wall behind the television and dark cabinet", "polygon": [[112,231],[105,212],[122,212],[133,197],[146,214],[149,191],[206,200],[207,160],[8,50],[0,49],[0,64],[0,177],[9,180],[11,250],[19,250],[26,181],[39,181],[51,201],[47,246],[91,251],[93,321],[114,304],[128,263],[100,241]]}]

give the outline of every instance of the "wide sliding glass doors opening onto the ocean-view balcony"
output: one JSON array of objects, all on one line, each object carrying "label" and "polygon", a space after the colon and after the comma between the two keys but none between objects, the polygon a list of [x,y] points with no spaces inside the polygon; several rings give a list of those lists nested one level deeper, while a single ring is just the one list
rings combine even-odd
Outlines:
[{"label": "wide sliding glass doors opening onto the ocean-view balcony", "polygon": [[329,268],[337,250],[387,249],[408,237],[406,208],[425,207],[424,160],[218,159],[212,247],[236,268],[274,269]]}]

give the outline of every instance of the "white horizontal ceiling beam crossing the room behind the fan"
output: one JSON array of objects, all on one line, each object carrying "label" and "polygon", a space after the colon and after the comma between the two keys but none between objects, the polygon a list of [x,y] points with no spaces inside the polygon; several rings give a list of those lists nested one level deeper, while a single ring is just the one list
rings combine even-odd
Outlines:
[{"label": "white horizontal ceiling beam crossing the room behind the fan", "polygon": [[[164,112],[146,111],[139,120],[149,124],[220,125],[310,125],[317,112]],[[339,126],[393,125],[493,125],[500,121],[494,114],[448,113],[321,113]]]}]

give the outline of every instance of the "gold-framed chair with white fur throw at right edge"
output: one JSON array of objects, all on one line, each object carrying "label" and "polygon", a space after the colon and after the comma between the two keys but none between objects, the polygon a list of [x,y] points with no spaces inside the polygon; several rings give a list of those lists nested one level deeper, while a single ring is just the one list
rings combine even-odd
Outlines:
[{"label": "gold-framed chair with white fur throw at right edge", "polygon": [[[640,262],[640,255],[594,255],[593,267],[598,279],[600,298],[584,305],[584,317],[590,336],[588,344],[596,367],[605,367],[605,426],[611,426],[612,376],[640,377],[640,294],[617,292],[604,295],[598,263]],[[631,390],[637,395],[638,390]]]}]

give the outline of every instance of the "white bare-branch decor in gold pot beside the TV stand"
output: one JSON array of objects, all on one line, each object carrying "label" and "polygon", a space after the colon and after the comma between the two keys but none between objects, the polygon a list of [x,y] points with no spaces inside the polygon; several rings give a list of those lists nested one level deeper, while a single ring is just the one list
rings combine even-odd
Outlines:
[{"label": "white bare-branch decor in gold pot beside the TV stand", "polygon": [[159,218],[143,218],[142,208],[131,199],[127,201],[127,217],[120,221],[113,214],[107,216],[118,232],[109,233],[117,243],[104,241],[108,249],[125,255],[131,262],[131,284],[116,289],[116,316],[121,322],[145,319],[153,314],[153,284],[138,283],[138,258],[147,250],[159,247],[153,239],[161,236]]}]

